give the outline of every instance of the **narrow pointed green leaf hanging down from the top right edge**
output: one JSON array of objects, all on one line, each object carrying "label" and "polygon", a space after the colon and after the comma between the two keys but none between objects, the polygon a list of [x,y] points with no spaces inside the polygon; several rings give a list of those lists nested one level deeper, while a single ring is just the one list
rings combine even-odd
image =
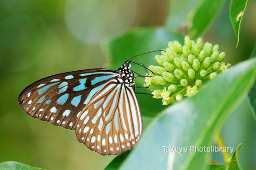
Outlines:
[{"label": "narrow pointed green leaf hanging down from the top right edge", "polygon": [[230,2],[230,20],[235,30],[235,36],[237,37],[237,45],[239,42],[241,23],[249,2],[250,0],[231,0]]}]

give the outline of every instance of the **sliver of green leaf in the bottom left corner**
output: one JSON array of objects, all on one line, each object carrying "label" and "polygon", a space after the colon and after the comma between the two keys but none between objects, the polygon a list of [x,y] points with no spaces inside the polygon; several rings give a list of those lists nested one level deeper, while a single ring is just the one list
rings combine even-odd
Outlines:
[{"label": "sliver of green leaf in the bottom left corner", "polygon": [[41,168],[34,168],[19,162],[4,162],[0,164],[0,170],[44,170]]}]

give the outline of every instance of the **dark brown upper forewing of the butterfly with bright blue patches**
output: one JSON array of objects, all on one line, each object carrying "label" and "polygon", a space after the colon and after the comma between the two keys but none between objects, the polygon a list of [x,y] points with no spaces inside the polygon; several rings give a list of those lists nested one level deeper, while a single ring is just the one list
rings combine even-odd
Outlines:
[{"label": "dark brown upper forewing of the butterfly with bright blue patches", "polygon": [[74,130],[89,100],[119,72],[91,69],[67,72],[34,82],[19,95],[19,105],[32,117]]}]

